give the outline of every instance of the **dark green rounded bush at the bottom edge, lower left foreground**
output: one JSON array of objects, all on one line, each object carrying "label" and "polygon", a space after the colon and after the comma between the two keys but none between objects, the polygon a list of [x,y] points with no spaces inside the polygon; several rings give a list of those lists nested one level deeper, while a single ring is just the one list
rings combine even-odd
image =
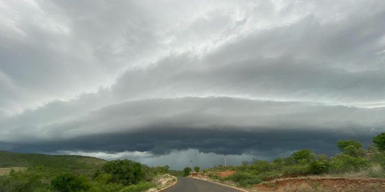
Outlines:
[{"label": "dark green rounded bush at the bottom edge, lower left foreground", "polygon": [[60,192],[87,191],[90,188],[90,183],[86,176],[75,176],[72,174],[56,176],[51,181],[51,185]]}]

